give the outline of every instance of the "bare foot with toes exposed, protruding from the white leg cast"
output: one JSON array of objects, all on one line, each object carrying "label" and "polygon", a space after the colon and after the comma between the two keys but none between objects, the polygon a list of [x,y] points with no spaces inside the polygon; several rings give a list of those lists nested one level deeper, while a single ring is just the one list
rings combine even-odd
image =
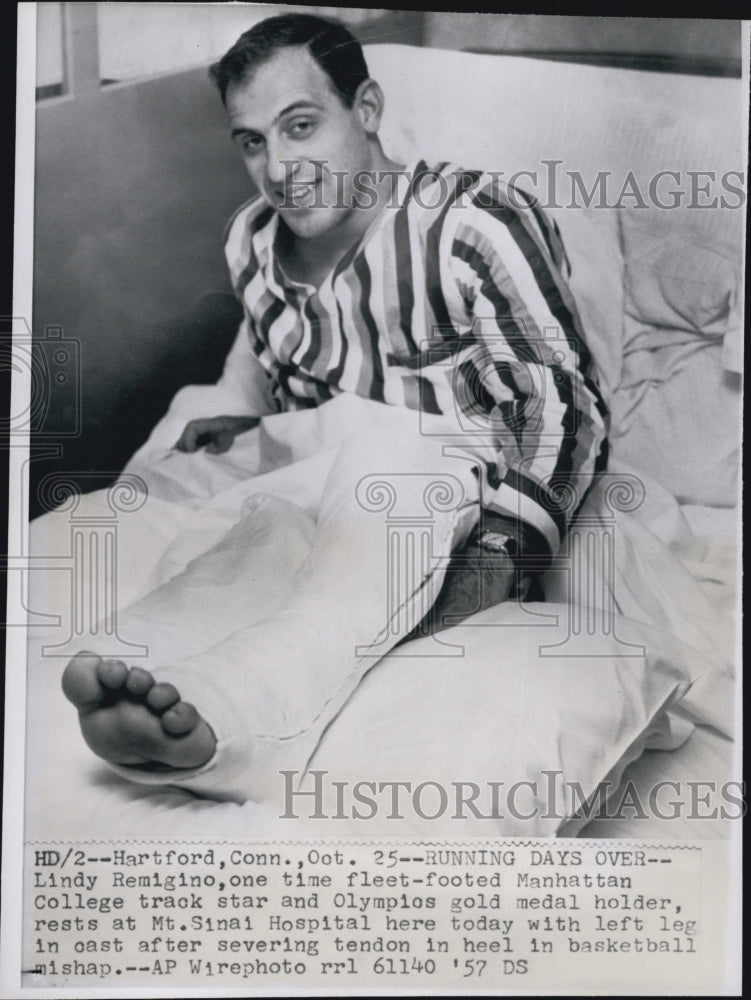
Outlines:
[{"label": "bare foot with toes exposed, protruding from the white leg cast", "polygon": [[199,767],[213,756],[208,724],[172,684],[156,682],[148,670],[81,652],[62,684],[78,709],[83,738],[113,764],[166,770]]}]

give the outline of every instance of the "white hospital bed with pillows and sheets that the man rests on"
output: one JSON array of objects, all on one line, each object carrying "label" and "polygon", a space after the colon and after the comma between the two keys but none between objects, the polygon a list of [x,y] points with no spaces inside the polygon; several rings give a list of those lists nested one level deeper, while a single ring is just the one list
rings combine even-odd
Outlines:
[{"label": "white hospital bed with pillows and sheets that the man rests on", "polygon": [[[49,564],[30,576],[27,838],[727,836],[737,809],[720,790],[738,778],[741,81],[399,45],[369,46],[367,58],[386,95],[389,155],[498,169],[507,179],[527,172],[517,183],[551,211],[567,248],[611,410],[612,452],[545,581],[546,602],[486,609],[387,656],[309,768],[350,783],[475,783],[485,805],[493,782],[535,789],[521,789],[518,808],[504,797],[491,818],[465,808],[460,819],[447,809],[427,819],[305,823],[280,818],[284,803],[127,783],[91,756],[59,690],[80,572],[74,539],[95,561],[107,532],[120,546],[119,565],[130,570],[113,602],[124,607],[231,526],[243,489],[234,449],[224,507],[191,500],[191,489],[216,489],[201,459],[190,475],[178,470],[161,497],[144,502],[139,492],[187,419],[237,400],[242,388],[225,378],[178,393],[119,482],[100,492],[101,509],[90,497],[68,498],[32,525],[32,553]],[[262,471],[252,489],[264,488]],[[282,498],[291,489],[283,472],[272,486]],[[159,564],[178,528],[182,542]],[[142,572],[133,569],[139,546]],[[572,600],[575,578],[588,582]],[[96,612],[87,613],[93,623]],[[140,655],[138,637],[106,638],[118,655]],[[559,783],[557,810],[550,780]],[[714,783],[713,805],[728,808],[697,808],[696,781]],[[645,815],[613,806],[629,782]],[[658,808],[660,782],[672,784]],[[592,812],[601,788],[610,815]]]}]

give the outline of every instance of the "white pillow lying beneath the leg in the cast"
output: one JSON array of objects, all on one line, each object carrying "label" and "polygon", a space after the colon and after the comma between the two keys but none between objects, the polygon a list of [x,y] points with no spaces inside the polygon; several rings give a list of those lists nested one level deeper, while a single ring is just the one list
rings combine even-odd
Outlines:
[{"label": "white pillow lying beneath the leg in the cast", "polygon": [[[574,835],[586,818],[576,818],[579,796],[564,783],[578,783],[584,800],[601,783],[614,792],[625,767],[651,739],[665,745],[664,712],[686,691],[690,673],[701,673],[702,658],[697,654],[697,663],[687,663],[687,647],[679,651],[669,637],[656,637],[625,618],[618,619],[617,634],[644,646],[646,655],[610,636],[597,640],[601,655],[551,655],[560,652],[551,647],[566,638],[567,622],[564,605],[528,605],[527,613],[515,604],[499,605],[438,636],[462,644],[463,655],[437,657],[436,640],[425,638],[381,661],[331,724],[309,765],[327,772],[318,780],[329,817],[309,819],[309,832],[341,833],[346,827],[372,836]],[[300,787],[311,790],[313,780],[309,774]],[[331,819],[335,781],[348,783],[347,822]],[[353,822],[357,781],[409,782],[411,793],[402,793],[404,819],[389,819],[386,790],[377,796],[376,816]],[[557,786],[555,800],[550,781]],[[418,793],[415,809],[412,794],[421,782],[430,784]],[[476,805],[483,815],[501,815],[481,819],[465,806],[463,818],[454,818],[459,782],[479,786]],[[495,810],[490,782],[503,783]],[[448,802],[435,818],[421,817],[420,811],[430,816],[444,805],[434,783],[446,790]],[[310,815],[312,798],[294,801],[301,818]],[[370,811],[358,808],[363,816]]]}]

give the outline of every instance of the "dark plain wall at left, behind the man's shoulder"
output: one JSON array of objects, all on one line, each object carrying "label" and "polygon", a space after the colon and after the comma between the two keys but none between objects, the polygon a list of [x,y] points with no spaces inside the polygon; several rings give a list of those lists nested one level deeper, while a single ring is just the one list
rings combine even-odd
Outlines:
[{"label": "dark plain wall at left, behind the man's shoulder", "polygon": [[[114,65],[112,25],[102,60],[97,5],[64,6],[67,93],[37,106],[33,330],[41,341],[49,327],[62,328],[76,342],[80,371],[75,386],[52,377],[44,387],[49,405],[35,440],[63,452],[32,463],[33,514],[46,475],[65,472],[84,490],[102,485],[93,472],[114,478],[181,385],[216,381],[240,318],[222,235],[254,193],[207,74],[209,49],[214,57],[228,44],[226,24],[206,37],[197,68],[102,86]],[[173,7],[121,6],[121,19],[126,8],[144,11],[144,30]],[[254,6],[256,20],[259,9],[280,8]],[[225,11],[234,40],[238,11],[213,13]],[[192,23],[201,12],[188,13]],[[419,14],[355,21],[363,41],[420,41]],[[178,31],[183,21],[174,23]],[[144,52],[162,58],[156,46]],[[132,63],[125,56],[121,69]],[[168,56],[184,60],[184,46]],[[80,426],[69,436],[77,403]]]}]

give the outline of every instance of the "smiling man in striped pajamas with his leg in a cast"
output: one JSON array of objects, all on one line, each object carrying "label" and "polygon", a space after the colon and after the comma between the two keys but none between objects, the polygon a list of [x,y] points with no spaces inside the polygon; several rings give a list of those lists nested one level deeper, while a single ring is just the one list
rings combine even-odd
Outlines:
[{"label": "smiling man in striped pajamas with his leg in a cast", "polygon": [[[91,748],[128,777],[262,798],[425,610],[440,626],[549,564],[572,486],[580,500],[604,468],[606,414],[555,228],[482,172],[390,160],[381,89],[346,29],[271,18],[212,73],[260,193],[226,253],[262,403],[191,422],[178,448],[222,452],[265,414],[320,412],[335,448],[312,548],[283,606],[259,622],[238,603],[237,632],[208,654],[155,676],[81,653],[63,688]],[[426,475],[456,485],[434,509],[432,559],[396,598],[360,492],[371,471],[412,514]],[[243,530],[239,581],[253,572]],[[457,552],[472,572],[446,573]]]}]

